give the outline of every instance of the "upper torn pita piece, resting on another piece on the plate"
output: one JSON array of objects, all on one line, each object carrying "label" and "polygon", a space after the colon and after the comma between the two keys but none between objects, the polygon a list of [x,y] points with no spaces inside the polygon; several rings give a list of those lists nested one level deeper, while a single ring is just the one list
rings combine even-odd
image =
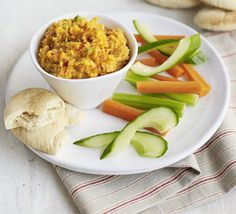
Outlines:
[{"label": "upper torn pita piece, resting on another piece on the plate", "polygon": [[55,93],[29,88],[10,99],[4,110],[4,123],[6,129],[22,127],[34,130],[54,121],[61,111],[65,111],[65,103]]}]

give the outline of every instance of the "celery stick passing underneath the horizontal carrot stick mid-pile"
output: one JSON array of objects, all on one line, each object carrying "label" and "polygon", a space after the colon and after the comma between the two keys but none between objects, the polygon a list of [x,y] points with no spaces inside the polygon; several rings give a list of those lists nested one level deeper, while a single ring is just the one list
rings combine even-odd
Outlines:
[{"label": "celery stick passing underneath the horizontal carrot stick mid-pile", "polygon": [[[133,73],[132,71],[128,71],[125,77],[125,80],[132,85],[135,85],[137,81],[158,81],[154,78],[150,77],[142,77],[140,75],[137,75]],[[159,94],[150,94],[153,97],[160,97]],[[166,93],[165,95],[162,95],[162,97],[168,97],[174,100],[177,100],[179,102],[183,102],[187,105],[194,106],[199,99],[199,96],[197,94],[186,94],[186,93]]]}]

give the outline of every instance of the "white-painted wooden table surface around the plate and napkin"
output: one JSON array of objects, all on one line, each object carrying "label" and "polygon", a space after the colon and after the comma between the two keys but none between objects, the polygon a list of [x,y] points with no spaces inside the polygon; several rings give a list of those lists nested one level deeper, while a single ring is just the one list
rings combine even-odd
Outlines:
[{"label": "white-painted wooden table surface around the plate and napkin", "polygon": [[[73,11],[159,14],[192,27],[197,9],[167,10],[143,0],[1,0],[0,7],[0,115],[5,106],[8,75],[28,49],[30,39],[47,20]],[[23,78],[23,77],[22,77]],[[20,80],[19,80],[20,81]],[[2,121],[2,120],[1,120]],[[0,123],[0,213],[78,213],[52,165],[34,155]],[[191,214],[234,213],[236,189],[217,201],[191,209]]]}]

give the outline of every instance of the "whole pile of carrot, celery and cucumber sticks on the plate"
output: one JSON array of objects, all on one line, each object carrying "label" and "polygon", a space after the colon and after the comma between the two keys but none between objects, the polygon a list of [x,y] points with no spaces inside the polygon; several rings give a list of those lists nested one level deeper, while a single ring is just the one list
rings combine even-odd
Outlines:
[{"label": "whole pile of carrot, celery and cucumber sticks on the plate", "polygon": [[[208,59],[200,50],[199,34],[189,37],[154,35],[137,20],[133,24],[139,33],[135,38],[141,44],[138,50],[141,58],[131,66],[125,80],[139,94],[115,93],[101,107],[103,112],[129,122],[120,131],[91,136],[74,143],[104,148],[100,159],[122,152],[129,144],[140,156],[163,156],[168,149],[163,136],[178,124],[186,105],[196,105],[199,97],[206,96],[211,90],[193,67]],[[149,56],[142,57],[143,54]]]}]

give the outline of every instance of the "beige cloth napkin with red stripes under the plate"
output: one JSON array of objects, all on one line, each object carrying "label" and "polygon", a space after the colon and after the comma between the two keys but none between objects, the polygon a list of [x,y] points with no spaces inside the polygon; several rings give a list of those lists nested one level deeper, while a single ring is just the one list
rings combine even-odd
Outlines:
[{"label": "beige cloth napkin with red stripes under the plate", "polygon": [[208,33],[231,76],[231,100],[223,124],[202,148],[164,169],[101,176],[55,169],[81,213],[175,213],[199,206],[236,184],[236,32]]}]

